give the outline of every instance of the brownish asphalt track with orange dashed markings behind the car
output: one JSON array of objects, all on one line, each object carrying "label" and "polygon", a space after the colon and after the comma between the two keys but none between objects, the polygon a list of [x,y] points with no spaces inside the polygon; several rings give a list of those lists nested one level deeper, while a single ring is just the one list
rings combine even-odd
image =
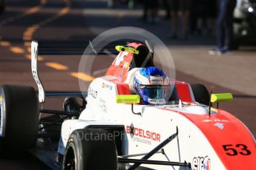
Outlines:
[{"label": "brownish asphalt track with orange dashed markings behind the car", "polygon": [[[202,70],[199,72],[200,76],[196,76],[193,71],[182,69],[192,64],[191,61],[187,65],[180,64],[182,62],[180,58],[183,58],[183,55],[189,55],[184,52],[184,49],[193,50],[195,47],[199,47],[196,52],[194,51],[194,54],[191,52],[191,55],[194,55],[195,58],[196,56],[209,57],[206,50],[213,47],[214,38],[204,37],[202,39],[196,37],[188,41],[166,41],[165,36],[169,29],[169,21],[161,21],[160,25],[142,24],[139,19],[140,10],[134,10],[131,13],[124,6],[120,5],[120,7],[121,9],[113,12],[106,9],[105,1],[7,1],[7,10],[0,16],[0,84],[22,84],[36,88],[30,73],[30,41],[32,39],[36,39],[45,47],[59,47],[62,46],[62,43],[65,44],[65,47],[76,47],[76,44],[79,47],[86,47],[88,40],[95,38],[96,35],[103,30],[108,30],[108,28],[130,25],[143,27],[159,36],[168,47],[173,47],[171,52],[174,55],[174,62],[177,62],[176,78],[178,80],[205,84],[213,92],[232,92],[235,95],[234,101],[221,103],[220,107],[240,118],[249,127],[252,134],[256,136],[255,91],[247,90],[243,92],[241,90],[243,89],[242,85],[229,88],[217,79],[221,77],[217,73],[207,76],[205,71]],[[252,61],[255,61],[256,58],[254,48],[234,55],[249,55],[248,58]],[[77,74],[79,57],[57,55],[40,56],[39,59],[40,75],[46,90],[79,91],[78,78],[82,81],[92,79],[88,75]],[[112,60],[108,58],[105,63],[93,63],[93,67],[94,69],[104,69]],[[198,63],[200,62],[198,61]],[[255,68],[250,64],[243,67],[252,70],[252,73],[248,75],[250,77],[248,84],[254,85],[256,80],[253,79]],[[229,79],[230,84],[236,84],[239,78],[232,75],[229,70],[223,70],[223,74],[224,72],[228,74],[226,78]],[[217,80],[214,83],[211,81],[213,75]],[[47,100],[45,107],[59,109],[62,107],[62,101],[63,99]],[[33,155],[27,153],[22,158],[0,160],[0,169],[48,168]]]}]

